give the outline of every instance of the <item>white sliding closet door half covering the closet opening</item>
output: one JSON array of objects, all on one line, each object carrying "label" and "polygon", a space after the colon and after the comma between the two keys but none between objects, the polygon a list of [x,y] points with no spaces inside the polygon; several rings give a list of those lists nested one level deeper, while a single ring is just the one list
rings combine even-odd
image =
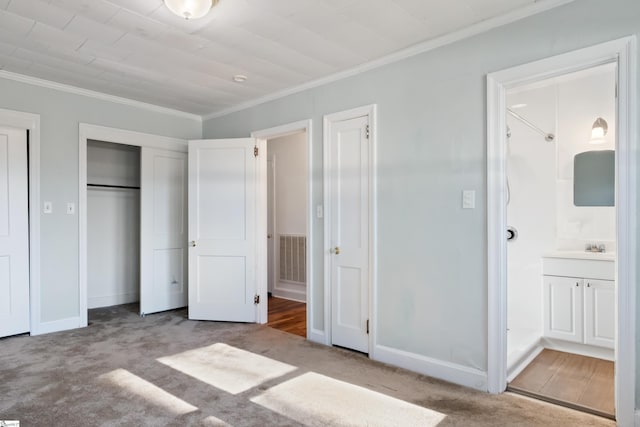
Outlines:
[{"label": "white sliding closet door half covering the closet opening", "polygon": [[187,155],[140,153],[140,313],[187,305]]}]

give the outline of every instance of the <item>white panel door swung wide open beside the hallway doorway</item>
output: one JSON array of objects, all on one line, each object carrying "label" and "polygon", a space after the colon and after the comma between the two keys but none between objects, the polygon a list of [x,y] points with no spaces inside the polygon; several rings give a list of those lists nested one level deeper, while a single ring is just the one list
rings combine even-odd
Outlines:
[{"label": "white panel door swung wide open beside the hallway doorway", "polygon": [[190,319],[256,321],[254,147],[252,138],[189,142]]}]

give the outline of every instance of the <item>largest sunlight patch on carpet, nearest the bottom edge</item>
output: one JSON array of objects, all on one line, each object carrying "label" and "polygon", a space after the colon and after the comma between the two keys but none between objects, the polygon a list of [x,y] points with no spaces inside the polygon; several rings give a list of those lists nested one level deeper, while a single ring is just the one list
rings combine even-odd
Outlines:
[{"label": "largest sunlight patch on carpet, nearest the bottom edge", "polygon": [[251,399],[308,426],[437,426],[445,414],[309,372]]}]

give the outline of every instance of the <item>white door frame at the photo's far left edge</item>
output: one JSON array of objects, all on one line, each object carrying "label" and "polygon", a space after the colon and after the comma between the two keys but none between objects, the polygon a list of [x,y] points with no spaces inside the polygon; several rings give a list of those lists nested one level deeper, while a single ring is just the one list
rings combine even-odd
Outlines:
[{"label": "white door frame at the photo's far left edge", "polygon": [[39,335],[48,332],[40,316],[40,115],[0,108],[0,126],[29,131],[29,317],[31,335]]}]

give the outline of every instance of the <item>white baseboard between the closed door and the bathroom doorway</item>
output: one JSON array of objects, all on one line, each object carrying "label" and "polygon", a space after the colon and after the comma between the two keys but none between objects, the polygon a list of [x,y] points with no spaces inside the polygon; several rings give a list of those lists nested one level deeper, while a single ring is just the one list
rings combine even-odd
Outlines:
[{"label": "white baseboard between the closed door and the bathroom doorway", "polygon": [[376,345],[375,360],[398,366],[423,375],[487,391],[487,373],[456,363],[444,362],[395,348]]}]

